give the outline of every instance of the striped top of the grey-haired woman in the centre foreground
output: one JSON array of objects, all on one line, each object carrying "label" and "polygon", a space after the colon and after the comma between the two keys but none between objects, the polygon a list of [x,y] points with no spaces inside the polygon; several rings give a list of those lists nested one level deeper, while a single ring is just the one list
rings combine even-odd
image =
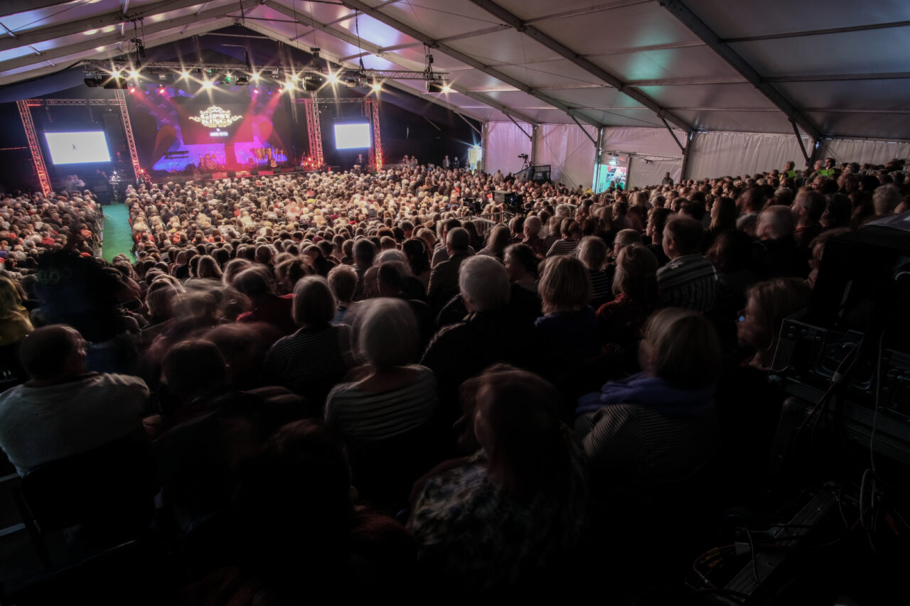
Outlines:
[{"label": "striped top of the grey-haired woman in the centre foreground", "polygon": [[326,421],[351,442],[364,444],[389,439],[430,421],[436,410],[436,375],[419,364],[408,385],[369,393],[358,383],[342,383],[326,399]]}]

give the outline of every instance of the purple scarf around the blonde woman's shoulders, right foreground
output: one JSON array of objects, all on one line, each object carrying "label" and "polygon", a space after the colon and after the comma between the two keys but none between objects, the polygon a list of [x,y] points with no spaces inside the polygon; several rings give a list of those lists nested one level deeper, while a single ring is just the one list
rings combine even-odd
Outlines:
[{"label": "purple scarf around the blonde woman's shoulders, right foreground", "polygon": [[606,383],[600,393],[581,396],[575,414],[596,412],[611,404],[641,404],[671,419],[697,419],[711,410],[713,396],[713,385],[703,389],[681,389],[659,377],[648,377],[639,372]]}]

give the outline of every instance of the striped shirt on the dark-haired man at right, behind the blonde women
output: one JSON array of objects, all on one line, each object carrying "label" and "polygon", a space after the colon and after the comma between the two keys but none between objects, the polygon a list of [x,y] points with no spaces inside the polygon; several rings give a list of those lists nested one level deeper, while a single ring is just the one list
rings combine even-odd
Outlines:
[{"label": "striped shirt on the dark-haired man at right, behind the blonde women", "polygon": [[657,289],[667,307],[710,311],[717,299],[717,271],[702,255],[682,255],[657,270]]}]

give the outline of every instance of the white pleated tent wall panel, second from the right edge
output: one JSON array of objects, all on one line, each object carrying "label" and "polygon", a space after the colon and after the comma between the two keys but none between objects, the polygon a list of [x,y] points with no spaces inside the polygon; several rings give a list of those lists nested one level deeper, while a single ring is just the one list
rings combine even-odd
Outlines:
[{"label": "white pleated tent wall panel, second from the right edge", "polygon": [[[807,151],[812,142],[803,137]],[[686,178],[703,179],[783,168],[788,160],[803,167],[803,153],[794,135],[761,133],[695,133]]]}]

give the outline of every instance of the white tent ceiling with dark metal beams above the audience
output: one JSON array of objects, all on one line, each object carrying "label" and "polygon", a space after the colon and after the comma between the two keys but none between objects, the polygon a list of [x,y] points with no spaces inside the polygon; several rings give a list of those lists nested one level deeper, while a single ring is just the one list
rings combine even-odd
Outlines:
[{"label": "white tent ceiling with dark metal beams above the audience", "polygon": [[[242,11],[242,12],[241,12]],[[906,0],[3,0],[0,86],[238,22],[346,66],[434,70],[396,87],[538,124],[910,138]]]}]

